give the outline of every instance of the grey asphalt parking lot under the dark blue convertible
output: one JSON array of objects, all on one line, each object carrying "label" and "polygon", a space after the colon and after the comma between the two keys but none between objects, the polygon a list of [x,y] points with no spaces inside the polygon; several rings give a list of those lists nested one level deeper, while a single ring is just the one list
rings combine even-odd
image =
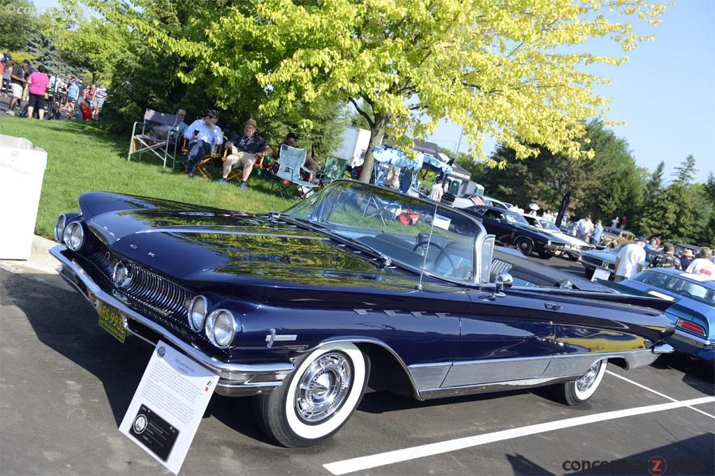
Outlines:
[{"label": "grey asphalt parking lot under the dark blue convertible", "polygon": [[[59,276],[0,266],[0,472],[169,474],[117,430],[151,353],[99,328]],[[581,407],[543,390],[429,402],[373,393],[335,437],[297,450],[265,439],[250,400],[215,395],[181,473],[712,475],[713,395],[697,365],[671,355],[609,366]]]}]

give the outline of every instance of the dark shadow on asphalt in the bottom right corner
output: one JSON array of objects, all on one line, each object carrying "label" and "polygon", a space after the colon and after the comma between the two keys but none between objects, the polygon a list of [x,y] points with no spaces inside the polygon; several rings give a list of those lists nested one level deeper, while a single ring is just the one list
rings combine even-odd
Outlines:
[{"label": "dark shadow on asphalt in the bottom right corner", "polygon": [[710,432],[596,465],[581,459],[564,462],[564,469],[566,475],[712,475],[714,447]]}]

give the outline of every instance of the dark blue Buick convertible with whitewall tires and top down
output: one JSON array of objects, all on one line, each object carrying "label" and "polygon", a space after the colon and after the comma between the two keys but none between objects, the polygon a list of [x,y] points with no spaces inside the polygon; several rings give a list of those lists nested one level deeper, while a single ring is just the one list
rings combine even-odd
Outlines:
[{"label": "dark blue Buick convertible with whitewall tires and top down", "polygon": [[366,392],[549,385],[578,405],[607,361],[672,351],[669,301],[515,284],[476,218],[386,188],[336,181],[265,215],[101,192],[79,208],[50,252],[99,325],[172,345],[221,395],[252,395],[287,447],[333,435]]}]

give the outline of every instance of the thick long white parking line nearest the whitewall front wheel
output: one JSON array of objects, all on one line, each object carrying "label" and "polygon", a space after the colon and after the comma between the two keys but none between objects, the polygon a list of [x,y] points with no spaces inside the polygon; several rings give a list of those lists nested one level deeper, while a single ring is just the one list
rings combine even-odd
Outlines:
[{"label": "thick long white parking line nearest the whitewall front wheel", "polygon": [[715,397],[701,397],[694,398],[692,400],[684,400],[682,402],[660,403],[659,405],[647,405],[645,407],[626,408],[625,410],[596,413],[594,415],[585,415],[583,417],[566,418],[565,420],[556,420],[555,422],[539,423],[538,425],[512,428],[511,430],[486,433],[485,435],[457,438],[456,440],[431,443],[430,445],[415,446],[411,448],[404,448],[403,450],[378,453],[377,455],[336,461],[322,466],[333,475],[345,475],[348,472],[368,470],[372,467],[391,465],[396,462],[415,460],[425,456],[440,455],[445,452],[463,450],[468,447],[486,445],[497,441],[511,440],[512,438],[536,435],[537,433],[562,430],[563,428],[570,428],[579,425],[588,425],[588,423],[632,417],[633,415],[644,415],[645,413],[661,412],[664,410],[689,407],[691,405],[701,405],[709,402],[715,402]]}]

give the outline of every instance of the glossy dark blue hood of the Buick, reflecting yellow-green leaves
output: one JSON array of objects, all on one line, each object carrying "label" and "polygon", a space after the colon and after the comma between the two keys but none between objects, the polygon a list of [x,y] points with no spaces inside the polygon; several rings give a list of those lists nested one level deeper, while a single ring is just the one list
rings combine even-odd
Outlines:
[{"label": "glossy dark blue hood of the Buick, reflecting yellow-green leaves", "polygon": [[[114,206],[122,209],[112,210],[107,198],[117,197],[122,201]],[[394,291],[414,290],[419,277],[268,215],[97,193],[83,195],[80,208],[112,253],[189,285],[280,282],[287,288],[379,285]]]}]

